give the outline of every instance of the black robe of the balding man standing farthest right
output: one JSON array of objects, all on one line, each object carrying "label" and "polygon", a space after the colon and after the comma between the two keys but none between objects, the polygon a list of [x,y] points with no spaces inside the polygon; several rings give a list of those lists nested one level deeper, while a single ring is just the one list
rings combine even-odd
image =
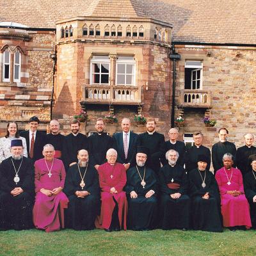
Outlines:
[{"label": "black robe of the balding man standing farthest right", "polygon": [[246,173],[252,170],[252,166],[250,161],[248,161],[249,156],[256,154],[255,147],[247,147],[244,145],[243,147],[237,148],[236,152],[236,161],[237,161],[237,168],[241,171],[243,177]]}]

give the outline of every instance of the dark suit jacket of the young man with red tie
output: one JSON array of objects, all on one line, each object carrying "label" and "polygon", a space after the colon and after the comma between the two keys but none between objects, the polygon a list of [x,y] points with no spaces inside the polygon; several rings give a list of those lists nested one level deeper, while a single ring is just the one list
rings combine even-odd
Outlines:
[{"label": "dark suit jacket of the young man with red tie", "polygon": [[[30,152],[29,130],[20,132],[20,136],[26,139],[28,158],[31,158],[29,156],[29,152]],[[36,131],[36,138],[34,143],[34,154],[32,158],[33,161],[36,161],[44,157],[42,152],[45,144],[46,144],[46,134],[44,134],[44,132]]]}]

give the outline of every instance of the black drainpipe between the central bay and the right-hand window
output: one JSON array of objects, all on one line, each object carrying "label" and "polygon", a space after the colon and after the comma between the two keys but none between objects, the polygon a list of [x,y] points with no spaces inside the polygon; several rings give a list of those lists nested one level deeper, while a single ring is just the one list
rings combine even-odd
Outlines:
[{"label": "black drainpipe between the central bay and the right-hand window", "polygon": [[180,60],[180,54],[175,52],[174,44],[172,44],[172,52],[169,54],[170,60],[173,61],[173,74],[172,74],[172,115],[171,115],[171,127],[174,127],[174,115],[175,115],[175,82],[176,82],[176,61]]}]

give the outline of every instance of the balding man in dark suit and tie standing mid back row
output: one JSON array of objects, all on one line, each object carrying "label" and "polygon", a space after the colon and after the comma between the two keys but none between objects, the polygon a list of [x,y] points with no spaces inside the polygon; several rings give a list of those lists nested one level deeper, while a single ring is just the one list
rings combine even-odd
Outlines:
[{"label": "balding man in dark suit and tie standing mid back row", "polygon": [[122,132],[113,134],[114,148],[117,151],[116,162],[124,164],[128,170],[130,166],[136,164],[136,148],[138,134],[131,132],[131,121],[129,118],[123,118],[121,122]]}]

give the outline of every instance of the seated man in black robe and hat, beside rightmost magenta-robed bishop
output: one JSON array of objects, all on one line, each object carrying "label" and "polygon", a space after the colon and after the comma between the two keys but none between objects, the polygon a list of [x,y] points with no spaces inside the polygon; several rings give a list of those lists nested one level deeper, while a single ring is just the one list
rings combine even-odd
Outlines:
[{"label": "seated man in black robe and hat, beside rightmost magenta-robed bishop", "polygon": [[191,227],[221,232],[220,194],[214,175],[207,170],[209,157],[199,155],[198,167],[189,172]]}]

